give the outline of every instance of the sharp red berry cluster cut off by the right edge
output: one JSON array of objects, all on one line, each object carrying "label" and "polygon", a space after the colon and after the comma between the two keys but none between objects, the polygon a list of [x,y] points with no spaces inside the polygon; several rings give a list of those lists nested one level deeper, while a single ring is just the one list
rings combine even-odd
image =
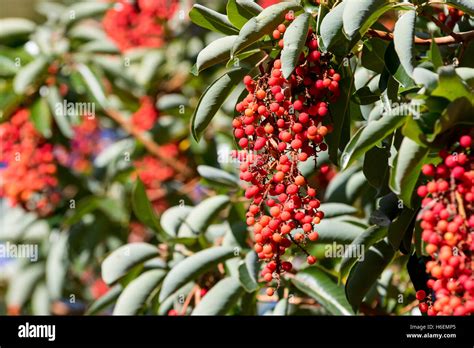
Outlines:
[{"label": "sharp red berry cluster cut off by the right edge", "polygon": [[433,294],[420,303],[428,315],[474,313],[474,153],[472,138],[463,135],[454,152],[440,151],[441,163],[427,164],[422,172],[432,178],[418,187],[426,263]]}]

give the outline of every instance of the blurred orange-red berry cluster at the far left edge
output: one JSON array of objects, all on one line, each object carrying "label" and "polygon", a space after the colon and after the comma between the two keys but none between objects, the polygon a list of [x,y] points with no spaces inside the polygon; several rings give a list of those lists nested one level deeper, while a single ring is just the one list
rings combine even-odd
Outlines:
[{"label": "blurred orange-red berry cluster at the far left edge", "polygon": [[27,109],[0,125],[0,143],[0,197],[42,216],[50,214],[61,199],[53,146],[29,121]]}]

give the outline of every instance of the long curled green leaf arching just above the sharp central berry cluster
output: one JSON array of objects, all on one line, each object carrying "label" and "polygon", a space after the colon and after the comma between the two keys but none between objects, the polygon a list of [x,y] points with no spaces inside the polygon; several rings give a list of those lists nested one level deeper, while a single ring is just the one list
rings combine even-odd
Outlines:
[{"label": "long curled green leaf arching just above the sharp central berry cluster", "polygon": [[240,30],[238,38],[232,47],[231,56],[242,51],[265,35],[275,30],[282,23],[288,11],[300,11],[302,7],[295,2],[282,2],[267,7],[257,17],[250,19]]}]

